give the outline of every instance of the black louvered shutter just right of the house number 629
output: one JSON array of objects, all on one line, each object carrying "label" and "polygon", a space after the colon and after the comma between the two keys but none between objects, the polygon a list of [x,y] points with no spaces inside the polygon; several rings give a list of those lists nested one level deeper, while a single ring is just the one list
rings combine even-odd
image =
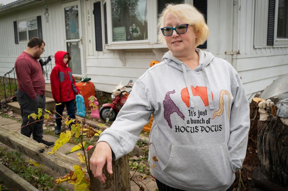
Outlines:
[{"label": "black louvered shutter just right of the house number 629", "polygon": [[93,3],[93,14],[95,24],[95,40],[96,40],[96,51],[102,51],[102,23],[101,23],[101,2]]}]

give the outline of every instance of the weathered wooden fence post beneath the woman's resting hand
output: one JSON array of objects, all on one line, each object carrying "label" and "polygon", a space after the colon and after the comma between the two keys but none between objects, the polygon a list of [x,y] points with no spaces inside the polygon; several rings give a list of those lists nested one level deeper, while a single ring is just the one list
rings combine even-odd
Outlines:
[{"label": "weathered wooden fence post beneath the woman's resting hand", "polygon": [[[89,169],[90,158],[94,149],[95,146],[88,151]],[[117,161],[112,161],[112,170],[113,174],[110,175],[107,172],[106,164],[104,165],[103,173],[107,178],[105,184],[102,184],[97,178],[95,178],[91,170],[89,170],[91,191],[131,191],[129,156],[125,155]]]}]

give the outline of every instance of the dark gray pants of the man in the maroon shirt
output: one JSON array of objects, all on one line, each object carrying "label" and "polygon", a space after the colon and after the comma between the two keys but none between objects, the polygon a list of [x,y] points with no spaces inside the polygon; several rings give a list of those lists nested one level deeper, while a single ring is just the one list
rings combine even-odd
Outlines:
[{"label": "dark gray pants of the man in the maroon shirt", "polygon": [[[18,103],[20,105],[21,109],[21,115],[22,115],[22,125],[26,126],[28,123],[35,122],[35,120],[30,117],[28,119],[28,115],[35,113],[38,114],[38,108],[42,108],[43,110],[45,109],[45,95],[37,95],[35,100],[31,100],[31,98],[23,91],[19,90],[16,93]],[[40,120],[43,119],[44,117],[41,116]],[[36,119],[38,120],[38,118]],[[36,140],[37,142],[40,142],[42,140],[42,135],[43,135],[43,120],[42,121],[37,121],[36,123],[32,123],[31,125],[28,125],[26,127],[23,127],[21,129],[21,134],[25,135],[27,137],[30,137],[31,134],[33,135],[33,139]]]}]

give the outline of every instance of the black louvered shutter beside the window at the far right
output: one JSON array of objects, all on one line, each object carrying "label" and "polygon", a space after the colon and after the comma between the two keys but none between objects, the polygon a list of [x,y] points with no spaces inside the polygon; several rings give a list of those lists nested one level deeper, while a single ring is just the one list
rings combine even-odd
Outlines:
[{"label": "black louvered shutter beside the window at the far right", "polygon": [[269,0],[267,45],[274,45],[275,0]]}]

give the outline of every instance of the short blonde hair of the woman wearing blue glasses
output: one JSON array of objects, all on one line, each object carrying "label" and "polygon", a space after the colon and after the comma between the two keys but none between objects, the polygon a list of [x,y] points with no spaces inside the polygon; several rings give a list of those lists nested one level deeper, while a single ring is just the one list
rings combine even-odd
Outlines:
[{"label": "short blonde hair of the woman wearing blue glasses", "polygon": [[202,13],[200,13],[194,6],[190,4],[166,4],[161,15],[158,18],[158,39],[160,42],[166,44],[165,36],[162,34],[161,28],[164,27],[164,20],[168,13],[172,13],[185,24],[193,26],[194,33],[198,33],[199,38],[195,41],[195,47],[202,45],[209,36],[209,29],[205,23]]}]

